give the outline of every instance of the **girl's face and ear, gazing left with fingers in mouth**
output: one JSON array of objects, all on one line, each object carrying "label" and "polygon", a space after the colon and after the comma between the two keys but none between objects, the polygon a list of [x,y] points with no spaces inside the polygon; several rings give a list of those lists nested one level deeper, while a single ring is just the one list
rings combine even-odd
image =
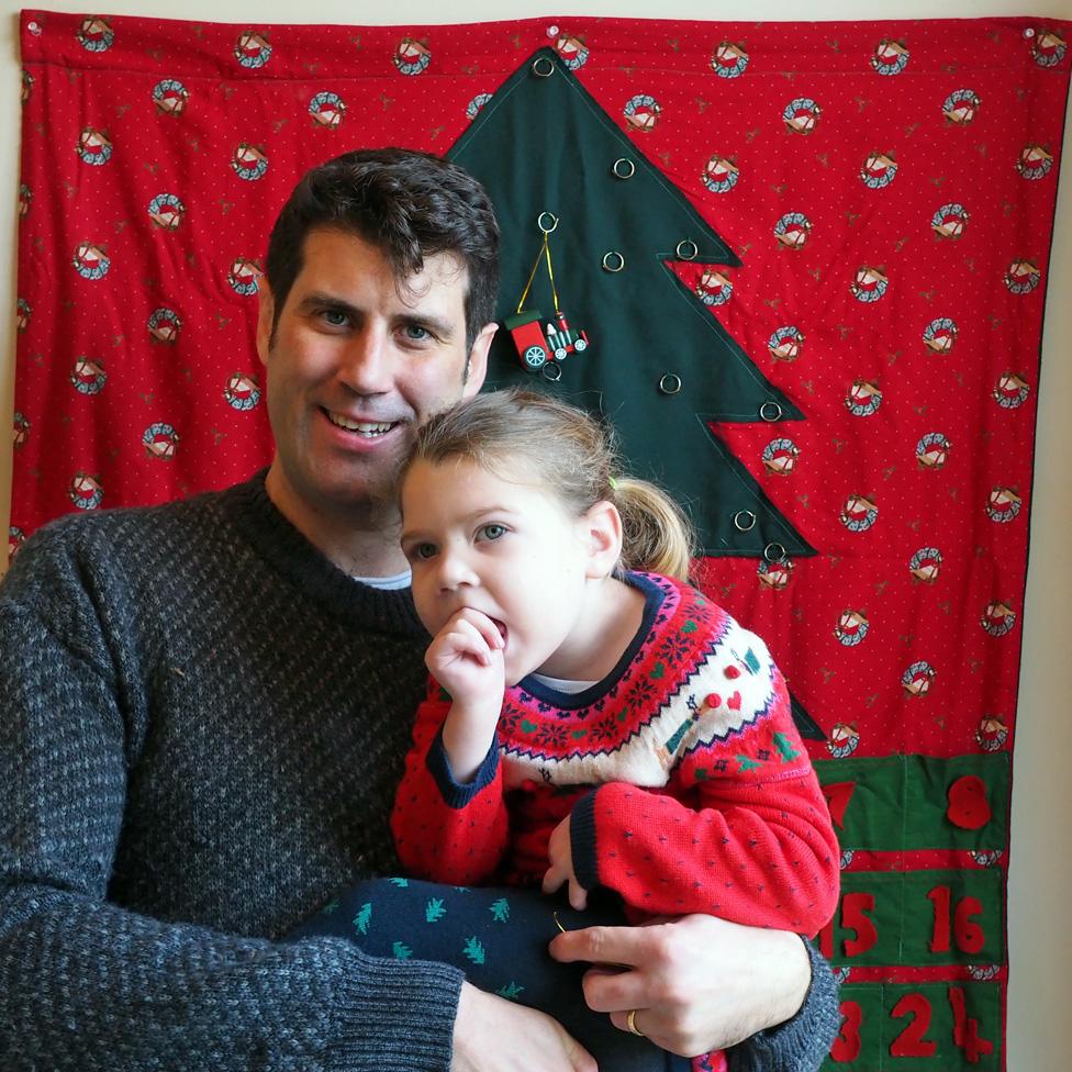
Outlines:
[{"label": "girl's face and ear, gazing left with fingers in mouth", "polygon": [[421,621],[435,636],[462,607],[485,614],[506,641],[507,685],[534,670],[578,675],[573,654],[592,641],[592,582],[618,552],[593,532],[598,507],[574,517],[517,469],[517,479],[504,479],[472,461],[417,461],[401,496],[402,551]]}]

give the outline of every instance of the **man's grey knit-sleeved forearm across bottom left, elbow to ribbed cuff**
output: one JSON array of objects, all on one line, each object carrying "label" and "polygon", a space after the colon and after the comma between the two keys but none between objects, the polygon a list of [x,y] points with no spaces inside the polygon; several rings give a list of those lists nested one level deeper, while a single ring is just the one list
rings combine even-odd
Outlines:
[{"label": "man's grey knit-sleeved forearm across bottom left, elbow to ribbed cuff", "polygon": [[165,925],[41,886],[0,904],[4,1072],[449,1068],[456,969]]}]

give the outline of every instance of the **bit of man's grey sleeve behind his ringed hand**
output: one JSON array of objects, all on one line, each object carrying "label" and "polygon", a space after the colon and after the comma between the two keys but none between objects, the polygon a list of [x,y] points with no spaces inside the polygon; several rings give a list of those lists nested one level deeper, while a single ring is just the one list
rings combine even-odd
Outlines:
[{"label": "bit of man's grey sleeve behind his ringed hand", "polygon": [[841,1014],[830,965],[809,942],[812,983],[800,1012],[727,1052],[729,1072],[816,1072],[834,1045]]}]

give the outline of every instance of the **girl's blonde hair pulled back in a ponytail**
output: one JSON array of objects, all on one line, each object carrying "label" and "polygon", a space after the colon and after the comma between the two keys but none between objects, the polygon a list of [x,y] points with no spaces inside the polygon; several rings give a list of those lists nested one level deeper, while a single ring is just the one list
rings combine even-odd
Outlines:
[{"label": "girl's blonde hair pulled back in a ponytail", "polygon": [[415,461],[472,461],[501,477],[533,471],[576,516],[606,500],[622,515],[622,569],[689,579],[695,544],[681,507],[646,480],[622,474],[613,432],[533,391],[493,391],[445,410],[417,433],[399,484]]}]

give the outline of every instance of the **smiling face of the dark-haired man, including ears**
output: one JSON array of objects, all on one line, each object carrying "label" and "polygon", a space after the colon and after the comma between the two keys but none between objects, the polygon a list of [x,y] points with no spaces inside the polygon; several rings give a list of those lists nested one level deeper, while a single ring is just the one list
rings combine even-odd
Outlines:
[{"label": "smiling face of the dark-haired man, including ears", "polygon": [[375,246],[313,231],[303,260],[275,333],[270,295],[257,328],[277,451],[269,489],[292,521],[331,524],[387,502],[420,425],[477,393],[494,325],[467,354],[468,278],[450,255],[400,286]]}]

